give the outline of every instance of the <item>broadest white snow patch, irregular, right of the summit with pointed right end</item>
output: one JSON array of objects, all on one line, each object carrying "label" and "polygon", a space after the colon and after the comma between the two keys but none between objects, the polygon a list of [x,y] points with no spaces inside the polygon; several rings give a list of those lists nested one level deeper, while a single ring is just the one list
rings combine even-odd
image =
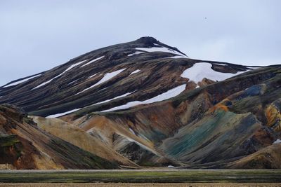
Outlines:
[{"label": "broadest white snow patch, irregular, right of the summit with pointed right end", "polygon": [[230,73],[221,73],[218,71],[214,71],[211,69],[211,64],[207,62],[200,62],[193,64],[192,67],[185,69],[183,71],[183,74],[181,74],[181,77],[183,78],[189,78],[190,81],[194,81],[195,83],[198,83],[202,81],[203,78],[211,79],[212,81],[223,81],[227,78],[237,76],[238,74],[242,74],[246,71],[239,71],[236,74],[230,74]]}]

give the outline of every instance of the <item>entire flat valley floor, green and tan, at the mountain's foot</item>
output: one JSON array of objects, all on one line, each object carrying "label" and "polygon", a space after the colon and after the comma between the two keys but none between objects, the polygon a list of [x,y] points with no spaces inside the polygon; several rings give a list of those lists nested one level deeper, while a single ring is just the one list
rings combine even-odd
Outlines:
[{"label": "entire flat valley floor, green and tan, at the mountain's foot", "polygon": [[281,186],[281,170],[0,170],[0,186]]}]

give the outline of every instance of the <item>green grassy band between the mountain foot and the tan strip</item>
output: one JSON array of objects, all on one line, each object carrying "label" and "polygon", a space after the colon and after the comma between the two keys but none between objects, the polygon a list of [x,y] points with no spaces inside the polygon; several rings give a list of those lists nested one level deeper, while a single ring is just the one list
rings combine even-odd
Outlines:
[{"label": "green grassy band between the mountain foot and the tan strip", "polygon": [[281,183],[281,170],[2,170],[1,183]]}]

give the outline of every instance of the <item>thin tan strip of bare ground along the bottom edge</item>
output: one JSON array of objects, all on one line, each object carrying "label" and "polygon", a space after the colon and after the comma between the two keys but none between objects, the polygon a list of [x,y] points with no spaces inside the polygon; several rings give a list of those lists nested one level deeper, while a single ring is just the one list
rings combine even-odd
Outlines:
[{"label": "thin tan strip of bare ground along the bottom edge", "polygon": [[255,186],[255,187],[264,187],[264,186],[281,186],[281,183],[0,183],[0,187],[207,187],[207,186],[216,186],[216,187],[241,187],[241,186]]}]

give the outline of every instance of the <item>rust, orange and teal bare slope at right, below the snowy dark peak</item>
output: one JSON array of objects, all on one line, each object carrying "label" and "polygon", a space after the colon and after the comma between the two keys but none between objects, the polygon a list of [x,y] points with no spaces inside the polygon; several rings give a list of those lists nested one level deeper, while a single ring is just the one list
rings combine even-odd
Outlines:
[{"label": "rust, orange and teal bare slope at right, below the snowy dark peak", "polygon": [[[268,107],[281,97],[280,70],[281,66],[256,69],[185,92],[170,101],[126,111],[91,113],[82,117],[85,120],[80,127],[87,123],[123,126],[142,141],[150,142],[150,148],[152,144],[159,155],[181,165],[228,167],[230,160],[270,146],[280,137],[280,130],[267,125],[266,117],[270,116]],[[101,116],[105,118],[102,121]],[[79,115],[63,119],[79,121]]]}]

